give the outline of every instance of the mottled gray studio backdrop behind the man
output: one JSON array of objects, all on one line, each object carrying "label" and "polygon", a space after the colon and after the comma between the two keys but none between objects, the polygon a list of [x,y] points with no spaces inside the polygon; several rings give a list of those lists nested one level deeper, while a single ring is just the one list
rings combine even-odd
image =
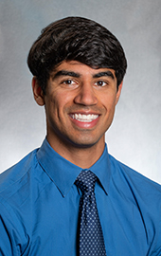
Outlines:
[{"label": "mottled gray studio backdrop behind the man", "polygon": [[94,19],[119,39],[128,59],[109,152],[161,183],[161,1],[0,0],[0,172],[45,137],[45,111],[32,98],[27,52],[43,27],[66,16]]}]

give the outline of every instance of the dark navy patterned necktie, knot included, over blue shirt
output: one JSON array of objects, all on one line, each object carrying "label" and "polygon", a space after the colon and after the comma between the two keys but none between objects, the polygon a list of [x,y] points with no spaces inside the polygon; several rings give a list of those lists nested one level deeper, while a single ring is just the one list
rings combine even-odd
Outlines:
[{"label": "dark navy patterned necktie, knot included, over blue shirt", "polygon": [[80,256],[106,256],[104,239],[95,198],[97,176],[82,171],[75,184],[80,188]]}]

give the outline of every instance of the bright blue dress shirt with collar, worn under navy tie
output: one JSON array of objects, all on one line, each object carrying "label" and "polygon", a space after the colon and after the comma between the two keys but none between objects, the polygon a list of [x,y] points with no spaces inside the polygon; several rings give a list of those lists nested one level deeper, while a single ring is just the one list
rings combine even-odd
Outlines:
[{"label": "bright blue dress shirt with collar, worn under navy tie", "polygon": [[[83,161],[83,159],[82,159]],[[90,168],[108,256],[161,255],[161,186],[108,155]],[[80,167],[42,147],[0,175],[0,256],[76,256]]]}]

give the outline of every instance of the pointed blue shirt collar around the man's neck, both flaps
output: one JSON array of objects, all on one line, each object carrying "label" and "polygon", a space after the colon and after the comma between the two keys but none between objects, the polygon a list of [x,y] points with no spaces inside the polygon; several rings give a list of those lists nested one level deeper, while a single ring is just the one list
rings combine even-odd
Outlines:
[{"label": "pointed blue shirt collar around the man's neck, both flaps", "polygon": [[[55,152],[46,138],[37,152],[37,159],[45,173],[48,174],[63,196],[69,192],[77,176],[82,171],[79,166],[69,162]],[[106,144],[103,154],[90,170],[98,176],[101,186],[108,193],[111,172]]]}]

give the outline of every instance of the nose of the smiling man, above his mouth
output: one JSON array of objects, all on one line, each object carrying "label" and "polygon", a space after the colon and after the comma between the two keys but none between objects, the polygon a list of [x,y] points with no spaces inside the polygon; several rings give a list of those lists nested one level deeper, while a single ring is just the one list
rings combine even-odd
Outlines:
[{"label": "nose of the smiling man, above his mouth", "polygon": [[80,91],[74,99],[75,103],[81,105],[95,105],[98,103],[98,98],[93,86],[90,82],[83,82],[80,86]]}]

